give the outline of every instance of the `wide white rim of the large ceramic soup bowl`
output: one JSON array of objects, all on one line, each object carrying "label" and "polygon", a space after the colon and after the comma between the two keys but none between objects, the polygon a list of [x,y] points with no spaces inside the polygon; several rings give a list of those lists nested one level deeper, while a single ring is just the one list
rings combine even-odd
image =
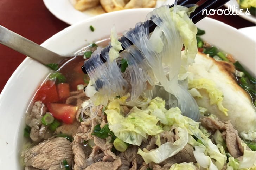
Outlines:
[{"label": "wide white rim of the large ceramic soup bowl", "polygon": [[[107,37],[113,25],[118,32],[134,27],[144,21],[152,9],[131,9],[99,15],[79,22],[46,40],[42,46],[65,54],[73,53],[81,47]],[[93,25],[94,32],[89,26]],[[232,53],[251,73],[255,74],[255,42],[238,30],[222,22],[205,18],[197,26],[206,30],[204,39]],[[26,58],[8,80],[0,95],[0,169],[21,169],[20,150],[23,145],[24,115],[37,87],[45,79],[49,70]]]}]

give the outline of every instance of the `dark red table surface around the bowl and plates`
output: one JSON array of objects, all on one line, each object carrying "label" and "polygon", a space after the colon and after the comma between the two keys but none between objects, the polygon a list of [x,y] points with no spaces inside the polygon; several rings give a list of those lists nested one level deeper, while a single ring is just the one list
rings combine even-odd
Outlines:
[{"label": "dark red table surface around the bowl and plates", "polygon": [[[255,26],[239,16],[213,15],[211,18],[235,28]],[[53,16],[42,0],[0,0],[0,25],[38,44],[69,26]],[[0,44],[0,59],[1,92],[25,56]]]}]

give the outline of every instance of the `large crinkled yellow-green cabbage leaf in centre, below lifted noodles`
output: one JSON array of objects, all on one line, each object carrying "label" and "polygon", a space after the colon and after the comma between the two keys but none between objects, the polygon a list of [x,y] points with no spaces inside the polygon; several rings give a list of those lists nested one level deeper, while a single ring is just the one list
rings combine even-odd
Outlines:
[{"label": "large crinkled yellow-green cabbage leaf in centre, below lifted noodles", "polygon": [[148,109],[133,107],[129,115],[124,117],[119,103],[114,100],[110,102],[105,113],[109,129],[114,132],[116,137],[132,145],[140,146],[142,141],[148,138],[148,135],[158,135],[163,131],[160,126],[156,125],[159,119],[150,115]]}]

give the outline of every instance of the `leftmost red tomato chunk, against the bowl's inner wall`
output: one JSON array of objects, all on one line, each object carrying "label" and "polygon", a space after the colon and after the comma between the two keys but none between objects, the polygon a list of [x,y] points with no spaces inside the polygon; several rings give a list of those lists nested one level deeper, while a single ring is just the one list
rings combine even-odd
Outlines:
[{"label": "leftmost red tomato chunk, against the bowl's inner wall", "polygon": [[34,101],[42,101],[43,103],[58,102],[59,97],[56,90],[54,81],[47,80],[39,89],[35,95]]}]

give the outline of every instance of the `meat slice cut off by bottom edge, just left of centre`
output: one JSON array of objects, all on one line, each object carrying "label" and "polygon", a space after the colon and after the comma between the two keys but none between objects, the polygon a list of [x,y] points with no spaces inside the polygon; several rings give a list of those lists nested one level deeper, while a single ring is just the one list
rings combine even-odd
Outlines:
[{"label": "meat slice cut off by bottom edge, just left of centre", "polygon": [[105,170],[117,170],[120,166],[122,165],[121,159],[118,158],[113,162],[96,162],[87,168],[85,170],[100,170],[100,169],[105,169]]}]

